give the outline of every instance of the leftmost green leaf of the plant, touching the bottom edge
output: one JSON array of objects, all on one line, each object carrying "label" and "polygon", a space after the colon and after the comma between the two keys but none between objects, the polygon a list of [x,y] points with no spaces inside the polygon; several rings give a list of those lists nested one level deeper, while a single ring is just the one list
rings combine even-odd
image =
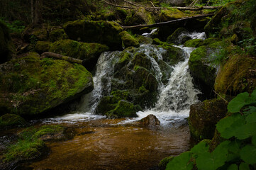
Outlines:
[{"label": "leftmost green leaf of the plant, touching the bottom edge", "polygon": [[179,170],[179,169],[184,169],[184,170],[191,170],[193,169],[193,163],[190,162],[191,159],[191,153],[190,152],[184,152],[182,154],[179,154],[179,156],[174,157],[172,161],[170,161],[166,169],[167,170]]}]

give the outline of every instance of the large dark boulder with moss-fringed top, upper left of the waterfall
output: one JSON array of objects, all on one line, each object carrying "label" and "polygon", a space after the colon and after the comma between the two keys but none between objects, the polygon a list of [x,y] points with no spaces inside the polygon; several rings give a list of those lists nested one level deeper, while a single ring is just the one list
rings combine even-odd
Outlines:
[{"label": "large dark boulder with moss-fringed top, upper left of the waterfall", "polygon": [[122,48],[122,39],[119,33],[123,29],[115,22],[78,20],[65,23],[63,28],[72,40],[105,44],[111,50]]}]

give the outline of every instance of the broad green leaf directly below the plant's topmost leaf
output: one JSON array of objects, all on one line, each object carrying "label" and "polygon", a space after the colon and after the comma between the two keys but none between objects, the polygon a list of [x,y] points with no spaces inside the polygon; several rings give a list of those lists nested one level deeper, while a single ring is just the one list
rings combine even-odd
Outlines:
[{"label": "broad green leaf directly below the plant's topmost leaf", "polygon": [[217,125],[216,129],[221,133],[221,137],[229,139],[236,134],[236,130],[238,130],[242,125],[245,124],[244,116],[239,113],[234,113],[229,117],[221,119]]}]

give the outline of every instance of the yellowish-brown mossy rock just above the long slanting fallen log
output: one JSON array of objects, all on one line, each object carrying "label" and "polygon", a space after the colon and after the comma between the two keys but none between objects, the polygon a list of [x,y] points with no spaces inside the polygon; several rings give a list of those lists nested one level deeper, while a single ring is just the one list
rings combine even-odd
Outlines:
[{"label": "yellowish-brown mossy rock just above the long slanting fallen log", "polygon": [[144,7],[140,7],[135,11],[131,10],[124,23],[126,26],[135,26],[139,24],[153,24],[155,21],[151,14],[145,11]]}]

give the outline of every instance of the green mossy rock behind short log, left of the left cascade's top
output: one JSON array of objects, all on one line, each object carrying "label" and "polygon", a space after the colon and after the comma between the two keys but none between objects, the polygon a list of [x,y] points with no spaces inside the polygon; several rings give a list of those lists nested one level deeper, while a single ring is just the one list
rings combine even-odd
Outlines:
[{"label": "green mossy rock behind short log, left of the left cascade's top", "polygon": [[50,45],[50,52],[84,60],[83,65],[89,71],[94,69],[102,52],[108,51],[106,45],[98,43],[77,42],[75,40],[59,40]]}]

